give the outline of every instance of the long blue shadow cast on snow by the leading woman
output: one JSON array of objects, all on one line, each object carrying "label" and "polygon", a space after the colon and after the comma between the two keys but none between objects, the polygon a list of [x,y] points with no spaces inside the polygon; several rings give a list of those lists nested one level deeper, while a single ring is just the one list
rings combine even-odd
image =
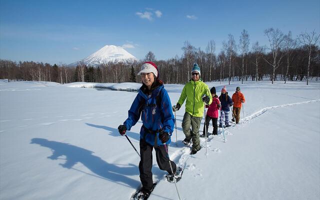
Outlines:
[{"label": "long blue shadow cast on snow by the leading woman", "polygon": [[[64,159],[65,162],[63,164],[59,164],[64,168],[74,169],[132,188],[135,188],[136,185],[140,184],[139,181],[127,177],[130,175],[136,175],[138,173],[139,170],[136,165],[128,164],[126,167],[119,167],[115,164],[102,160],[96,155],[93,155],[93,151],[69,143],[50,141],[44,138],[32,138],[30,143],[39,144],[40,146],[50,148],[52,155],[48,156],[47,158],[52,160]],[[82,163],[94,174],[73,168],[73,166],[78,162]]]}]

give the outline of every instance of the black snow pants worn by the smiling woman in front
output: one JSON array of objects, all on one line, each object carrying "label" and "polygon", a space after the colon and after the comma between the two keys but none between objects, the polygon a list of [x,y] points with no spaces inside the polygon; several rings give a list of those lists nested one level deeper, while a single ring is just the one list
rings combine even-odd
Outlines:
[{"label": "black snow pants worn by the smiling woman in front", "polygon": [[[152,188],[152,149],[154,147],[156,162],[161,170],[165,170],[168,174],[172,174],[168,154],[164,145],[152,146],[145,142],[144,139],[140,139],[140,155],[141,159],[139,162],[140,180],[142,183],[142,190],[150,191]],[[173,172],[176,171],[176,165],[173,161],[171,162]]]}]

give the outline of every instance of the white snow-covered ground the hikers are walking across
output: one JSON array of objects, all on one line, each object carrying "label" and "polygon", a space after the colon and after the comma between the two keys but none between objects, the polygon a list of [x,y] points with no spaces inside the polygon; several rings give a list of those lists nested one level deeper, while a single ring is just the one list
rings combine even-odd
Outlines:
[{"label": "white snow-covered ground the hikers are walking across", "polygon": [[[241,87],[240,124],[201,138],[189,155],[176,112],[169,156],[185,166],[182,199],[319,199],[320,84],[207,82],[229,95]],[[0,81],[0,199],[129,199],[140,186],[139,157],[117,126],[138,83]],[[84,87],[84,88],[83,88]],[[87,88],[85,88],[87,87]],[[183,85],[166,84],[171,103]],[[138,149],[139,121],[128,138]],[[203,129],[203,119],[200,130]],[[212,131],[212,125],[209,126]],[[176,142],[177,136],[177,142]],[[178,199],[153,156],[154,199]]]}]

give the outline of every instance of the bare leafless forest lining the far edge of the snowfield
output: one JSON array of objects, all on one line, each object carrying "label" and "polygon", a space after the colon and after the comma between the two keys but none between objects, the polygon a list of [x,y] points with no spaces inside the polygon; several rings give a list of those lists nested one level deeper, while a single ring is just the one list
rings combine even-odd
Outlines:
[{"label": "bare leafless forest lining the far edge of the snowfield", "polygon": [[184,84],[191,78],[194,62],[201,69],[203,81],[297,81],[320,77],[319,34],[304,32],[292,38],[291,32],[279,29],[264,30],[268,44],[258,41],[250,45],[245,29],[236,42],[233,35],[223,41],[223,49],[215,52],[214,40],[208,41],[205,50],[196,48],[189,41],[181,47],[183,54],[167,60],[157,60],[149,51],[143,60],[109,62],[99,66],[79,64],[76,67],[33,61],[14,62],[0,59],[0,78],[10,80],[38,80],[69,83],[85,82],[141,82],[137,77],[144,61],[153,61],[164,83]]}]

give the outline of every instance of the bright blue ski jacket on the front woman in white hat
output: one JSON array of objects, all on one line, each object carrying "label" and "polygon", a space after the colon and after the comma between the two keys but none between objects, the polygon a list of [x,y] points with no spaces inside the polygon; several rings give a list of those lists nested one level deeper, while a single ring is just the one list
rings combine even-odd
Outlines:
[{"label": "bright blue ski jacket on the front woman in white hat", "polygon": [[174,128],[174,115],[169,95],[161,84],[151,90],[151,94],[143,92],[144,85],[138,90],[138,94],[133,100],[133,103],[128,110],[128,118],[124,121],[127,130],[130,130],[133,125],[139,120],[141,115],[142,127],[140,129],[140,139],[144,139],[147,143],[154,146],[163,145],[158,135],[161,130],[169,133],[170,136]]}]

